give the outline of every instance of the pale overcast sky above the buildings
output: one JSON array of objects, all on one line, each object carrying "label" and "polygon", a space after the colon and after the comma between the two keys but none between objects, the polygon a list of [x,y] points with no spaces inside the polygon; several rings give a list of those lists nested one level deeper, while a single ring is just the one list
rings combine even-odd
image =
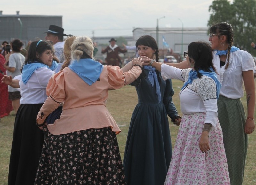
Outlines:
[{"label": "pale overcast sky above the buildings", "polygon": [[3,14],[62,15],[65,34],[132,36],[134,28],[207,27],[212,0],[9,0]]}]

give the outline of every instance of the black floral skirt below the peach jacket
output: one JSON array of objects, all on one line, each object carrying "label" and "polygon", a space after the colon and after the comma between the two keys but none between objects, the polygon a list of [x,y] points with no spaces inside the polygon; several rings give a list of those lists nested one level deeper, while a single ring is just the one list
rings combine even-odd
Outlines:
[{"label": "black floral skirt below the peach jacket", "polygon": [[53,135],[44,128],[35,184],[126,184],[110,127]]}]

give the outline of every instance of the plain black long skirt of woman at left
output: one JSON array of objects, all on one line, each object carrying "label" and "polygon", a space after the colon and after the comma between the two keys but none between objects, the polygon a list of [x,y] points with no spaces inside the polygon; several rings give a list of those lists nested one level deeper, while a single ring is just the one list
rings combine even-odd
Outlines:
[{"label": "plain black long skirt of woman at left", "polygon": [[36,116],[43,104],[21,104],[14,122],[8,184],[34,184],[44,142]]}]

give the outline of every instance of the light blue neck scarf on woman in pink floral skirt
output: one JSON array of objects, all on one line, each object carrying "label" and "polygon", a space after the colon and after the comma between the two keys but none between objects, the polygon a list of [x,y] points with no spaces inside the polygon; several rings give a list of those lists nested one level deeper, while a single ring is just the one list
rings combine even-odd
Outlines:
[{"label": "light blue neck scarf on woman in pink floral skirt", "polygon": [[[213,71],[212,67],[210,67],[210,70]],[[217,100],[218,100],[219,94],[220,94],[221,84],[220,84],[220,81],[217,79],[216,73],[215,72],[206,72],[206,71],[203,71],[201,69],[199,70],[199,73],[204,75],[204,76],[209,76],[215,81],[216,91],[217,91],[216,92],[216,97],[217,97]],[[186,81],[186,83],[184,83],[181,90],[184,89],[188,84],[192,84],[192,81],[196,78],[198,78],[196,70],[193,71],[193,69],[191,69],[191,71],[189,72],[188,81]]]}]

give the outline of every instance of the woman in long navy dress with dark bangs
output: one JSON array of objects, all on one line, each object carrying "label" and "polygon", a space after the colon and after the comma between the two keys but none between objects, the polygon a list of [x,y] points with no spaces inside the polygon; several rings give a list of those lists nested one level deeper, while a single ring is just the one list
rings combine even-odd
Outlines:
[{"label": "woman in long navy dress with dark bangs", "polygon": [[[140,37],[136,47],[141,58],[153,61],[155,57],[158,61],[158,47],[153,37]],[[125,178],[127,184],[132,185],[164,184],[172,157],[167,115],[178,125],[180,116],[172,102],[172,81],[163,80],[155,68],[143,68],[145,77],[131,84],[136,86],[139,103],[132,114],[125,146]]]}]

